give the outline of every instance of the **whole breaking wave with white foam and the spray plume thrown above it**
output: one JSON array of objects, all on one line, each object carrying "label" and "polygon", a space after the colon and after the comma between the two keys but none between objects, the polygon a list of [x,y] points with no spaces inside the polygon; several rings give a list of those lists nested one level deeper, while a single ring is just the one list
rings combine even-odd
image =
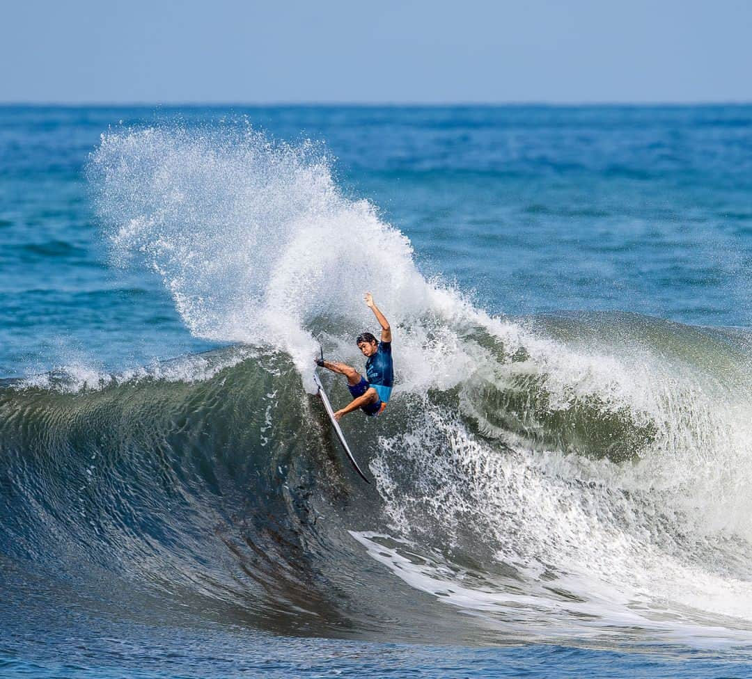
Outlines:
[{"label": "whole breaking wave with white foam and the spray plume thrown above it", "polygon": [[[284,634],[748,641],[749,336],[492,317],[425,279],[323,149],[251,130],[108,134],[91,175],[114,259],[237,346],[6,382],[5,559]],[[344,421],[373,487],[310,378],[318,339],[361,364],[365,289],[398,385],[387,417]]]}]

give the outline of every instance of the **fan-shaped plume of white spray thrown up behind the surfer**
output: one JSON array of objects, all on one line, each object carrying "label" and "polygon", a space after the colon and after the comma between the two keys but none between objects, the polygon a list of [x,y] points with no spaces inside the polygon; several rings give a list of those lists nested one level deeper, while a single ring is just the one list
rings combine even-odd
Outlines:
[{"label": "fan-shaped plume of white spray thrown up behind the surfer", "polygon": [[359,280],[395,313],[426,306],[408,240],[341,195],[323,146],[242,126],[123,130],[102,136],[89,174],[114,261],[159,273],[197,336],[298,358],[314,319],[365,322]]}]

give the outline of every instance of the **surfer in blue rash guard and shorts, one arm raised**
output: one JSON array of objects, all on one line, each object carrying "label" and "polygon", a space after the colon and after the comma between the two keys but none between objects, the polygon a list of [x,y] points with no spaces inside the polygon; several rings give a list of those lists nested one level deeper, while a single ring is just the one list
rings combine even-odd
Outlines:
[{"label": "surfer in blue rash guard and shorts, one arm raised", "polygon": [[377,342],[371,333],[361,333],[356,338],[358,349],[368,360],[365,361],[366,380],[355,368],[344,363],[323,361],[316,359],[320,367],[331,370],[332,373],[344,375],[347,378],[347,388],[353,396],[353,400],[344,408],[335,412],[335,420],[339,421],[342,415],[361,409],[366,415],[378,415],[387,407],[392,387],[394,384],[394,370],[392,366],[392,329],[384,314],[374,304],[373,295],[365,293],[365,304],[376,316],[381,325],[381,342]]}]

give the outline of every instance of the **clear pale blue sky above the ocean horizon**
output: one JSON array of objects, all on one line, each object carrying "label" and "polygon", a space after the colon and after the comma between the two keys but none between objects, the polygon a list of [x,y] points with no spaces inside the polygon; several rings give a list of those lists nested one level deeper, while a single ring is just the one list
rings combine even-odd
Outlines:
[{"label": "clear pale blue sky above the ocean horizon", "polygon": [[0,102],[752,101],[749,0],[6,0]]}]

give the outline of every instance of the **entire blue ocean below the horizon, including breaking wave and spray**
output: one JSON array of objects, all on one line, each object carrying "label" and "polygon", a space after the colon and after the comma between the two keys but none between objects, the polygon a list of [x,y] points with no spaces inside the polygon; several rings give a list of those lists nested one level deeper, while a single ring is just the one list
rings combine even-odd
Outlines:
[{"label": "entire blue ocean below the horizon, including breaking wave and spray", "polygon": [[752,677],[750,262],[750,106],[0,107],[0,676]]}]

